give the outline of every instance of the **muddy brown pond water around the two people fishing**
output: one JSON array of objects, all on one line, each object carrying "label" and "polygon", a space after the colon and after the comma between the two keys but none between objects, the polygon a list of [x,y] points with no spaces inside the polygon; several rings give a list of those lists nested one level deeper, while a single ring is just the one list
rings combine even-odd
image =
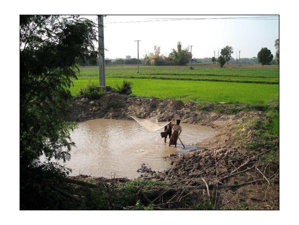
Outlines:
[{"label": "muddy brown pond water around the two people fishing", "polygon": [[145,163],[154,171],[163,171],[171,165],[162,157],[181,154],[196,149],[194,144],[209,138],[215,131],[205,126],[181,123],[181,141],[176,148],[164,143],[160,132],[148,132],[135,120],[95,119],[81,122],[71,133],[76,147],[71,150],[71,160],[65,165],[72,169],[71,176],[87,174],[98,177],[140,176],[137,172]]}]

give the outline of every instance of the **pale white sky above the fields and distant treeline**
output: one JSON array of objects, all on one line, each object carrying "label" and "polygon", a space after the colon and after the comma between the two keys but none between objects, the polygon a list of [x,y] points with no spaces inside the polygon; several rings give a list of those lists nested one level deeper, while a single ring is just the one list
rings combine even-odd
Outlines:
[{"label": "pale white sky above the fields and distant treeline", "polygon": [[[130,22],[161,19],[186,18],[236,18],[236,17],[265,17],[251,19],[196,19]],[[276,17],[269,17],[276,16]],[[139,58],[145,52],[154,52],[154,46],[161,46],[161,54],[167,55],[181,41],[182,48],[192,45],[193,58],[213,57],[218,55],[225,46],[232,46],[236,52],[241,50],[241,58],[256,57],[262,47],[267,47],[275,56],[274,41],[279,38],[278,15],[120,15],[104,17],[104,46],[105,58],[125,58],[130,55],[137,58],[137,42],[139,42]],[[86,16],[97,21],[97,16]],[[239,52],[238,52],[239,58]]]}]

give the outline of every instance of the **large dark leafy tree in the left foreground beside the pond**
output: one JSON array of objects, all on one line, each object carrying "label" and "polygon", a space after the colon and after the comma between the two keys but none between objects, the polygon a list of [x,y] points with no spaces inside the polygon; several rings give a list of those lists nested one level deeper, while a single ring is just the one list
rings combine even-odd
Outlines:
[{"label": "large dark leafy tree in the left foreground beside the pond", "polygon": [[[77,79],[75,62],[96,64],[94,22],[79,16],[20,15],[20,208],[39,209],[49,203],[49,183],[67,173],[58,163],[70,159],[74,146],[65,122]],[[45,162],[40,157],[46,157]],[[48,184],[48,185],[47,185]],[[43,197],[42,197],[43,196]]]}]

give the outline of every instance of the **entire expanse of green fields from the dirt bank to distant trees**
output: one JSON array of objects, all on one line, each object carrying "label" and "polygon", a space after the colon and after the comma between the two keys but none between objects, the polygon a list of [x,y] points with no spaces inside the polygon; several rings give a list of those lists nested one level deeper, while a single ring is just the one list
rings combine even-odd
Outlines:
[{"label": "entire expanse of green fields from the dirt bank to distant trees", "polygon": [[[213,66],[213,65],[208,65]],[[188,66],[108,66],[105,68],[106,85],[115,87],[123,80],[132,82],[132,94],[161,99],[179,99],[201,102],[226,102],[268,105],[278,103],[278,67],[254,69]],[[79,90],[92,81],[99,84],[97,67],[80,67],[78,80],[74,80],[71,94],[78,96]]]}]

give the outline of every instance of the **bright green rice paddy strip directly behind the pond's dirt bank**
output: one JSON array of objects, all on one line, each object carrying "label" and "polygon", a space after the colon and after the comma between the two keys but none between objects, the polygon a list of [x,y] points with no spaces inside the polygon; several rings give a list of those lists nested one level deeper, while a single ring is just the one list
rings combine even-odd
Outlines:
[{"label": "bright green rice paddy strip directly behind the pond's dirt bank", "polygon": [[[99,78],[91,78],[98,82]],[[178,99],[183,102],[226,102],[267,105],[277,101],[278,84],[247,84],[216,81],[185,81],[158,79],[126,79],[132,82],[132,93],[136,96],[157,97],[160,99]],[[80,87],[89,79],[74,80],[71,94],[78,96]],[[106,85],[120,85],[123,78],[106,77]],[[171,88],[172,87],[172,88]],[[167,90],[167,91],[165,91]]]}]

